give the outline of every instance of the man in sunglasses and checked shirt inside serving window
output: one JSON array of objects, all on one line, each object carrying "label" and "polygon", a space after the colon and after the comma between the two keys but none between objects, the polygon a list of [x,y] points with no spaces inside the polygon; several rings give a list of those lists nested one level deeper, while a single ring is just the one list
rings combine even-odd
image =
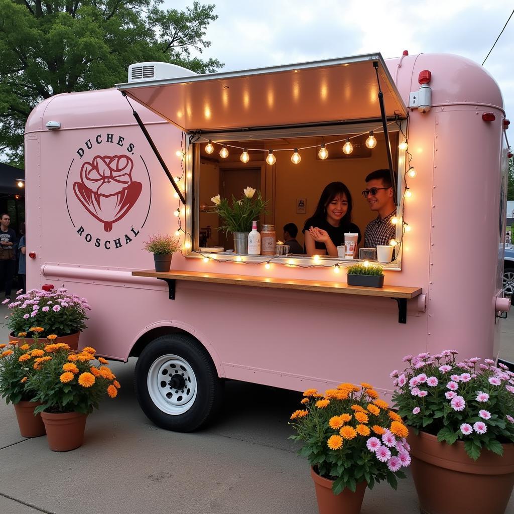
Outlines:
[{"label": "man in sunglasses and checked shirt inside serving window", "polygon": [[376,170],[366,177],[366,189],[362,196],[368,200],[370,209],[378,216],[371,221],[364,232],[364,246],[374,248],[389,245],[396,235],[396,226],[391,219],[396,215],[393,187],[389,170]]}]

